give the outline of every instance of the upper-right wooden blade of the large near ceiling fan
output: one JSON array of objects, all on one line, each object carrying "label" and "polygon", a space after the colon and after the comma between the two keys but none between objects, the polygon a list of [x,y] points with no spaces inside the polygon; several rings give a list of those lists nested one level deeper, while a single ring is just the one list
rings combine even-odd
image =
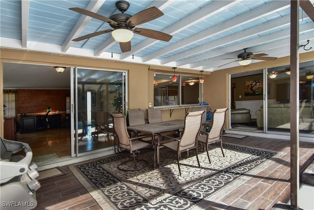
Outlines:
[{"label": "upper-right wooden blade of the large near ceiling fan", "polygon": [[153,6],[133,15],[131,18],[129,18],[129,20],[127,20],[127,24],[129,24],[131,27],[135,27],[136,25],[154,20],[162,15],[163,13],[157,7]]}]

